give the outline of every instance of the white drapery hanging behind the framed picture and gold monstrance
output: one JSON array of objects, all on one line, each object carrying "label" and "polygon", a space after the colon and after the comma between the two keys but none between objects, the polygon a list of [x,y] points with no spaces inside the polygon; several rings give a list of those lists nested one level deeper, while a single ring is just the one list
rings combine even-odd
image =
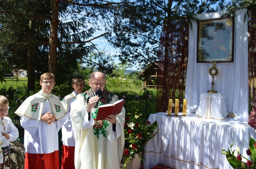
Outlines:
[{"label": "white drapery hanging behind the framed picture and gold monstrance", "polygon": [[[199,20],[220,18],[226,11],[197,15]],[[234,62],[216,63],[221,74],[214,79],[214,90],[223,93],[228,113],[235,119],[247,121],[248,118],[248,36],[246,10],[236,12],[234,18]],[[188,65],[185,98],[187,112],[196,112],[200,95],[212,89],[212,79],[207,69],[212,63],[197,63],[197,23],[189,29]]]}]

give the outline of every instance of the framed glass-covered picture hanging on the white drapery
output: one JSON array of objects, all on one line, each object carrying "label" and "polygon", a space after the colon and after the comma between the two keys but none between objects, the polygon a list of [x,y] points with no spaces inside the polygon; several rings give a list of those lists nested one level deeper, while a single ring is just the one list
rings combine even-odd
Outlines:
[{"label": "framed glass-covered picture hanging on the white drapery", "polygon": [[234,17],[197,23],[197,62],[234,61]]}]

